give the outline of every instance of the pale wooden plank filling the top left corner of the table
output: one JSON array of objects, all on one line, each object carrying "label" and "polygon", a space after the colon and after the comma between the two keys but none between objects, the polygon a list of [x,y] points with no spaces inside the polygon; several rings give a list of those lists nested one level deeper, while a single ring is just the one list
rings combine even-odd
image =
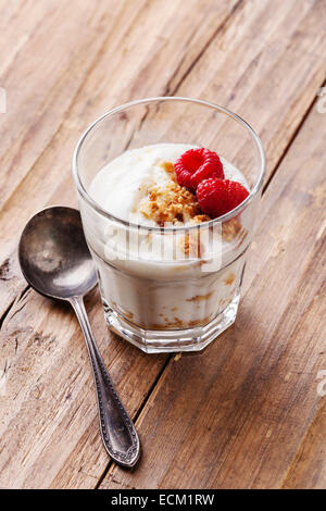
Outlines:
[{"label": "pale wooden plank filling the top left corner of the table", "polygon": [[49,0],[32,9],[22,2],[1,33],[0,82],[8,102],[0,124],[1,204],[60,128],[108,34],[114,37],[117,25],[127,29],[143,3],[111,0],[108,9],[99,0]]}]

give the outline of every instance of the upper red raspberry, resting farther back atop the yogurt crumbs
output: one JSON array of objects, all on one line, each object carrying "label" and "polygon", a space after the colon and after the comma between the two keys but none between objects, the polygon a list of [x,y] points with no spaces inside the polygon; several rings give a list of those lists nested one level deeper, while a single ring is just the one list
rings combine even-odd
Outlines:
[{"label": "upper red raspberry, resting farther back atop the yogurt crumbs", "polygon": [[208,177],[224,178],[223,164],[216,152],[205,148],[189,149],[176,161],[175,173],[180,186],[196,190]]}]

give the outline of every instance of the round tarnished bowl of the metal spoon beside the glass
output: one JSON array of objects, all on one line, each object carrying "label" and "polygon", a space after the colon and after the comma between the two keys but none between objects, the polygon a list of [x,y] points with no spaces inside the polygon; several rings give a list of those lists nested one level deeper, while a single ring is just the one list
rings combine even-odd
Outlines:
[{"label": "round tarnished bowl of the metal spoon beside the glass", "polygon": [[84,296],[97,284],[80,213],[73,208],[37,213],[23,230],[18,258],[26,281],[50,298]]}]

